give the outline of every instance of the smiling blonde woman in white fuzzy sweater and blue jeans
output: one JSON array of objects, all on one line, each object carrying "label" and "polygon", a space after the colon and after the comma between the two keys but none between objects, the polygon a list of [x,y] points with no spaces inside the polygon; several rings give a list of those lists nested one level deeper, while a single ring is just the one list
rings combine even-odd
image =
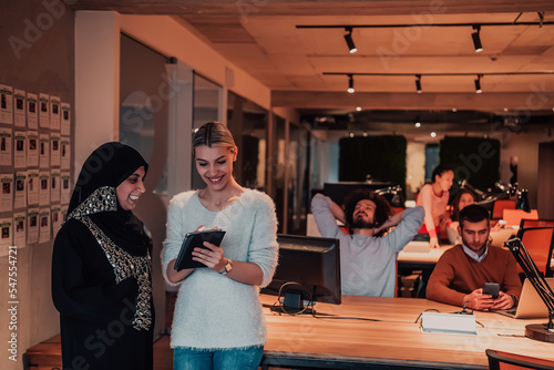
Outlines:
[{"label": "smiling blonde woman in white fuzzy sweater and blue jeans", "polygon": [[[242,187],[233,177],[238,150],[223,124],[208,122],[193,137],[202,191],[176,195],[170,206],[163,271],[181,285],[172,326],[173,367],[257,369],[266,343],[259,287],[277,265],[275,206],[264,193]],[[195,248],[194,260],[207,268],[176,271],[175,259],[186,233],[226,232],[222,245]]]}]

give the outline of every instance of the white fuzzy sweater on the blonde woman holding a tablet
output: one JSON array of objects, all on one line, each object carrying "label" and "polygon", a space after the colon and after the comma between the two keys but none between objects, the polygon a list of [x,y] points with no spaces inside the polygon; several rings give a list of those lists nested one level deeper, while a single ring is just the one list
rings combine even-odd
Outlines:
[{"label": "white fuzzy sweater on the blonde woman holding a tablet", "polygon": [[[163,273],[175,259],[186,233],[201,225],[226,232],[225,257],[257,264],[269,284],[278,258],[275,205],[264,193],[245,189],[220,212],[206,209],[196,191],[176,195],[170,205]],[[167,281],[170,282],[170,281]],[[179,282],[171,347],[202,349],[244,348],[266,343],[259,287],[237,282],[208,268],[197,268]]]}]

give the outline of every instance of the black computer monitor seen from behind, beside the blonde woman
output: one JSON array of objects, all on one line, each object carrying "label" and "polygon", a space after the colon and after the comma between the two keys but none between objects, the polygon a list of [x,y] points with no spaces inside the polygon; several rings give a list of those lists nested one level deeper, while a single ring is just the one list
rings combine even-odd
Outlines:
[{"label": "black computer monitor seen from behind, beside the blonde woman", "polygon": [[279,264],[271,282],[261,289],[264,294],[283,298],[274,310],[308,314],[312,312],[315,301],[340,305],[338,239],[278,235],[277,243]]}]

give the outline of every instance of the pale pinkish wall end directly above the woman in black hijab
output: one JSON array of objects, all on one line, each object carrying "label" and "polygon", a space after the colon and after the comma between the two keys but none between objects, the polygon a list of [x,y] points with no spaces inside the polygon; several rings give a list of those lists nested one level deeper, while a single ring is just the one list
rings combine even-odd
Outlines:
[{"label": "pale pinkish wall end directly above the woman in black hijab", "polygon": [[75,178],[96,147],[119,137],[120,16],[75,13]]}]

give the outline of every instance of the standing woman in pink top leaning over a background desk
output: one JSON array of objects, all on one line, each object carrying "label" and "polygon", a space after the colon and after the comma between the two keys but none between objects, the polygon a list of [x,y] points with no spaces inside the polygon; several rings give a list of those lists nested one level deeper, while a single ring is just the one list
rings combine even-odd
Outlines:
[{"label": "standing woman in pink top leaning over a background desk", "polygon": [[419,192],[416,204],[425,209],[425,220],[419,230],[419,238],[423,235],[429,240],[431,248],[439,247],[441,223],[449,218],[447,206],[450,197],[450,187],[454,179],[454,172],[449,167],[439,165],[432,174],[433,182],[425,184]]}]

